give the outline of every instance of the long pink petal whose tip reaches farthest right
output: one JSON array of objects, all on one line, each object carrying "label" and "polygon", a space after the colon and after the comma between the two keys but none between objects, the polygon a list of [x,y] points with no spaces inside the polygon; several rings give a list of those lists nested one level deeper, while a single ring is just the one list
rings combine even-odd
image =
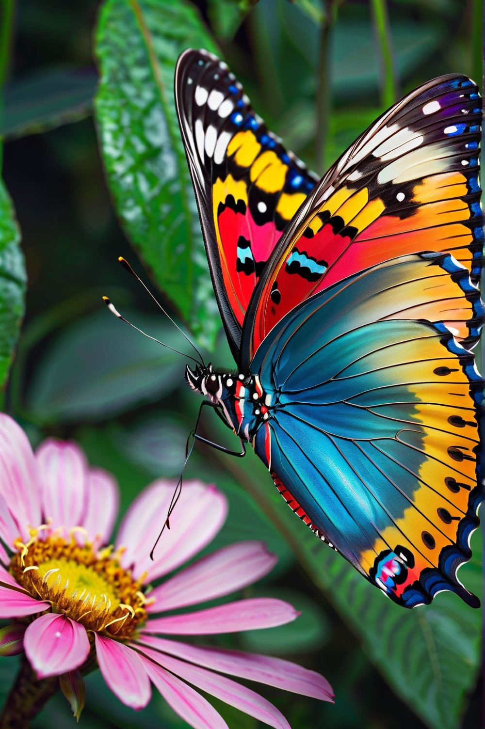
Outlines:
[{"label": "long pink petal whose tip reaches farthest right", "polygon": [[333,700],[333,690],[327,679],[316,671],[309,671],[289,660],[238,650],[203,648],[147,635],[141,636],[140,642],[213,671],[276,686],[322,701]]}]

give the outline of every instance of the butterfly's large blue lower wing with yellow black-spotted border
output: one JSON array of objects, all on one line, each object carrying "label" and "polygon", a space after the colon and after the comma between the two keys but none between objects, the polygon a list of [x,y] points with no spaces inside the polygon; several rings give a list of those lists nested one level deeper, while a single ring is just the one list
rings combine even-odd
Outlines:
[{"label": "butterfly's large blue lower wing with yellow black-spotted border", "polygon": [[299,305],[250,366],[269,405],[255,450],[279,490],[405,607],[440,590],[479,604],[457,568],[484,497],[484,381],[451,332],[482,319],[451,256],[400,257]]}]

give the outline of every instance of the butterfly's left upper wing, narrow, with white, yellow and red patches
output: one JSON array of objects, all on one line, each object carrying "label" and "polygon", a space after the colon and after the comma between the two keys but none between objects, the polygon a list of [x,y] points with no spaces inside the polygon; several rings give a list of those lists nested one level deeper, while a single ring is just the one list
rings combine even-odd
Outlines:
[{"label": "butterfly's left upper wing, narrow, with white, yellow and red patches", "polygon": [[317,178],[268,131],[214,55],[183,53],[175,90],[214,291],[237,360],[265,262]]}]

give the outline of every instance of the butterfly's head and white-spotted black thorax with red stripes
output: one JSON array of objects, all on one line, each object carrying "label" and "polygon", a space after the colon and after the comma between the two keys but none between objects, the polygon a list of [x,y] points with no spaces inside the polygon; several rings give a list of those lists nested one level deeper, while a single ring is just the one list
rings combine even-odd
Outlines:
[{"label": "butterfly's head and white-spotted black thorax with red stripes", "polygon": [[242,440],[251,441],[260,426],[271,418],[273,393],[263,391],[257,375],[214,372],[207,367],[187,366],[185,379],[195,392],[205,395],[222,409],[228,424]]}]

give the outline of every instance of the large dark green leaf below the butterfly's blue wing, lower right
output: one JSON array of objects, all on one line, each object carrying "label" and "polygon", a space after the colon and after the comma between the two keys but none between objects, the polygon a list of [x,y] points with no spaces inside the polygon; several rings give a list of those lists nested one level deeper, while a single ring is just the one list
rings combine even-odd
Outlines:
[{"label": "large dark green leaf below the butterfly's blue wing, lower right", "polygon": [[[226,442],[225,429],[219,429],[215,421],[212,437]],[[480,666],[481,610],[471,609],[451,593],[442,593],[431,605],[414,610],[395,605],[295,518],[253,453],[237,464],[236,459],[217,457],[257,500],[261,511],[271,515],[303,569],[360,638],[395,693],[433,729],[457,729]],[[481,595],[478,532],[472,548],[473,558],[459,576],[469,590]],[[331,675],[327,678],[331,682]]]}]

